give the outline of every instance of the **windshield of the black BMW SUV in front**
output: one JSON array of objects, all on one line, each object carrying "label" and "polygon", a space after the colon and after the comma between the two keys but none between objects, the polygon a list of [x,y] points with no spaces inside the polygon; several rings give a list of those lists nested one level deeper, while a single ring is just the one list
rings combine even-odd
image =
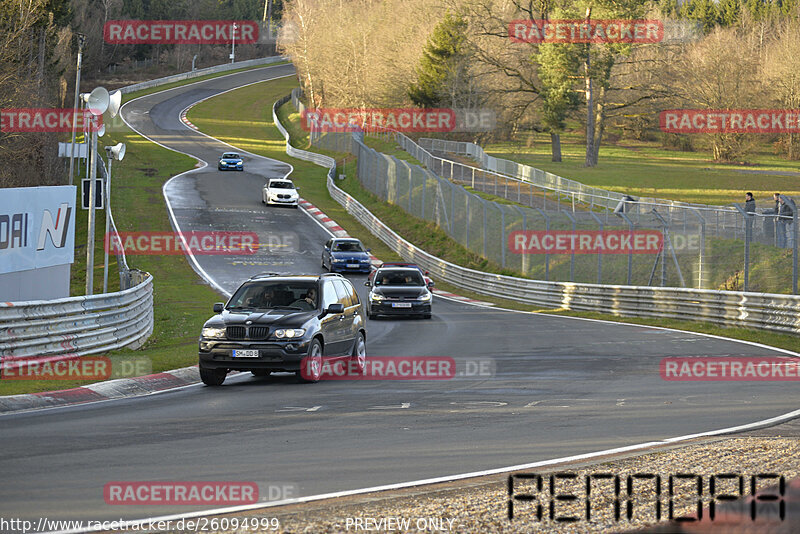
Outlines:
[{"label": "windshield of the black BMW SUV in front", "polygon": [[229,310],[317,309],[319,298],[313,282],[257,281],[243,285],[228,302]]}]

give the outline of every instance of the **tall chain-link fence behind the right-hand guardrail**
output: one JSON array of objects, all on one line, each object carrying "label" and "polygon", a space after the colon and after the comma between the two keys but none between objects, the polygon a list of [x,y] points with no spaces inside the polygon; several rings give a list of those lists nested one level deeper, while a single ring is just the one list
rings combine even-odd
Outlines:
[{"label": "tall chain-link fence behind the right-hand guardrail", "polygon": [[[371,135],[398,143],[422,165],[377,152],[360,133],[312,132],[311,139],[356,155],[359,181],[378,198],[509,271],[548,281],[797,292],[797,215],[789,197],[778,214],[772,204],[751,213],[572,184],[562,190],[434,156],[396,132]],[[648,231],[660,235],[658,247],[611,250],[603,240],[600,248],[538,246],[546,234],[630,238]]]}]

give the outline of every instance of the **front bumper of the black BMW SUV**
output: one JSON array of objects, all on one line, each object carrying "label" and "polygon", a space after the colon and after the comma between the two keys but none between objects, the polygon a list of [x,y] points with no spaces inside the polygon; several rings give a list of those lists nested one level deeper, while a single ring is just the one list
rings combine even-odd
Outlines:
[{"label": "front bumper of the black BMW SUV", "polygon": [[[291,341],[201,339],[198,359],[200,366],[206,369],[299,371],[300,361],[308,353],[309,341],[302,338]],[[258,350],[258,358],[234,358],[234,349]]]}]

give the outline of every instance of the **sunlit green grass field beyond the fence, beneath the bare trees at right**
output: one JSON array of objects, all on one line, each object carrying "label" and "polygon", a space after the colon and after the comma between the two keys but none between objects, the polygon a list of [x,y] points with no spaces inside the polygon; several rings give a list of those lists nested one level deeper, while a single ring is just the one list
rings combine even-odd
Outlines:
[{"label": "sunlit green grass field beyond the fence, beneath the bare trees at right", "polygon": [[510,141],[490,143],[484,150],[492,156],[532,165],[589,186],[637,197],[728,205],[744,202],[746,191],[753,191],[756,200],[765,203],[775,191],[800,195],[798,176],[738,172],[800,170],[797,162],[775,155],[766,143],[758,147],[748,165],[734,165],[715,163],[708,151],[668,150],[656,141],[623,139],[616,144],[604,141],[599,164],[587,168],[583,166],[585,141],[581,132],[562,135],[561,163],[551,161],[549,135],[536,134],[535,139],[533,147],[521,141]]}]

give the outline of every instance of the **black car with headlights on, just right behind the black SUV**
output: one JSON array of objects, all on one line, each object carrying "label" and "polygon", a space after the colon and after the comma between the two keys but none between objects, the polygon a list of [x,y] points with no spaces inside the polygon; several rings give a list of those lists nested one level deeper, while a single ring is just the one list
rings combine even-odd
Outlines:
[{"label": "black car with headlights on, just right behind the black SUV", "polygon": [[372,281],[367,299],[367,317],[378,315],[419,315],[431,318],[430,292],[432,283],[426,284],[419,269],[408,267],[384,267],[378,269]]}]

